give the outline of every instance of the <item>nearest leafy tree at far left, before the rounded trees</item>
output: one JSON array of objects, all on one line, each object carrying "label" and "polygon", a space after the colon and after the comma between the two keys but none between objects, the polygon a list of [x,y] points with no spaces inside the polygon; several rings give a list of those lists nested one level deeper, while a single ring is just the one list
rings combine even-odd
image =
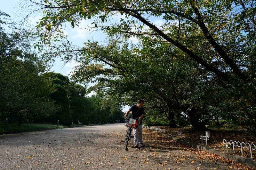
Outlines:
[{"label": "nearest leafy tree at far left, before the rounded trees", "polygon": [[[39,76],[46,64],[31,50],[30,41],[36,35],[31,30],[17,29],[16,23],[5,18],[7,14],[0,12],[0,17],[1,119],[9,117],[21,124],[56,112],[55,103],[47,97],[50,89]],[[12,28],[12,32],[5,32],[2,25]]]}]

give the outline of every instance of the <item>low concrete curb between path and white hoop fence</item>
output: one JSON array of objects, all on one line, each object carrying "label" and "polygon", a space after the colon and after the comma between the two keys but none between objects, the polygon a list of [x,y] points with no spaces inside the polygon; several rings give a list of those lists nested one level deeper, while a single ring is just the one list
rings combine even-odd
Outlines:
[{"label": "low concrete curb between path and white hoop fence", "polygon": [[185,145],[191,146],[193,148],[200,149],[201,151],[206,151],[206,152],[209,152],[209,153],[212,153],[212,154],[216,154],[216,155],[221,156],[223,158],[233,160],[236,163],[241,163],[241,164],[243,164],[245,166],[256,168],[256,161],[252,160],[250,158],[245,158],[243,156],[230,154],[228,152],[224,152],[224,151],[220,151],[220,150],[217,150],[217,149],[213,149],[213,148],[208,147],[208,146],[197,145],[195,143],[191,143],[191,142],[179,139],[179,138],[171,137],[169,135],[166,135],[166,137],[168,137],[168,138],[170,138],[172,140],[175,140],[177,142],[183,143]]}]

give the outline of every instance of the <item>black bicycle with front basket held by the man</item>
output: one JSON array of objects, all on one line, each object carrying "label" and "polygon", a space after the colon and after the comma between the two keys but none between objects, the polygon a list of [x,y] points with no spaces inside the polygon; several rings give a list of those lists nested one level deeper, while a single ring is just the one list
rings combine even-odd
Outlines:
[{"label": "black bicycle with front basket held by the man", "polygon": [[131,140],[132,129],[136,129],[139,124],[140,119],[132,119],[130,117],[125,117],[124,126],[127,127],[124,139],[125,151],[127,151],[128,142],[129,140]]}]

